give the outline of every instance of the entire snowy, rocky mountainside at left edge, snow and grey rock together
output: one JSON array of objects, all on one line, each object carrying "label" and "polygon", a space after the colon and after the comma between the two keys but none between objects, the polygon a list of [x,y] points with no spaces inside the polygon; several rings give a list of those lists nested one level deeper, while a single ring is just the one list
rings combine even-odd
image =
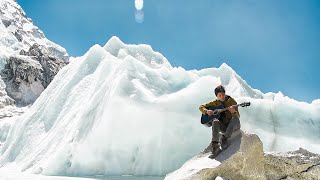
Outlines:
[{"label": "entire snowy, rocky mountainside at left edge, snow and grey rock together", "polygon": [[0,0],[0,107],[34,102],[68,59],[16,1]]}]

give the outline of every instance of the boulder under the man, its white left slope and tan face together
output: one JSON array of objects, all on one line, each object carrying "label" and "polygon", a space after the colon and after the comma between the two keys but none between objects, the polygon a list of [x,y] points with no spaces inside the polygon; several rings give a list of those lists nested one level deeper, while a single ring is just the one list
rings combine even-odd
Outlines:
[{"label": "boulder under the man, its white left slope and tan face together", "polygon": [[241,132],[230,143],[228,149],[215,159],[208,158],[210,152],[206,148],[165,179],[266,179],[263,145],[259,137]]}]

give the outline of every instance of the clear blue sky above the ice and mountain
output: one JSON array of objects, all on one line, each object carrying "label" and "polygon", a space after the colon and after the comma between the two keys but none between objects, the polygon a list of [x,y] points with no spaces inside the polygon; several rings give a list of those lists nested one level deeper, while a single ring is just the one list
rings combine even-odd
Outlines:
[{"label": "clear blue sky above the ice and mountain", "polygon": [[[253,88],[311,102],[320,98],[317,0],[17,0],[71,56],[113,35],[149,44],[173,66],[230,65]],[[135,14],[144,14],[143,22]]]}]

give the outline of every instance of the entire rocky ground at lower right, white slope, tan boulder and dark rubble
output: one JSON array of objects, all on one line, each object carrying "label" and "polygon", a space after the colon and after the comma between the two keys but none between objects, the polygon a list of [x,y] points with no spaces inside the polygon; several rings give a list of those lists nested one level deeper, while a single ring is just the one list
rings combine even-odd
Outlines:
[{"label": "entire rocky ground at lower right, white slope, tan boulder and dark rubble", "polygon": [[304,149],[288,153],[264,153],[263,144],[255,134],[242,132],[215,159],[209,159],[209,155],[206,148],[165,179],[300,180],[320,177],[319,155]]}]

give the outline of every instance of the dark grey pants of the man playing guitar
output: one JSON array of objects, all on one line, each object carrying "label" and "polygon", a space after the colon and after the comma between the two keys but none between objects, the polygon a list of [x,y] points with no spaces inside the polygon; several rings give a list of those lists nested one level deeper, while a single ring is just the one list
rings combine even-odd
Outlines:
[{"label": "dark grey pants of the man playing guitar", "polygon": [[237,117],[233,117],[228,125],[223,124],[218,119],[214,119],[212,122],[212,141],[219,142],[220,132],[223,132],[224,136],[229,139],[236,129],[240,129],[240,120]]}]

